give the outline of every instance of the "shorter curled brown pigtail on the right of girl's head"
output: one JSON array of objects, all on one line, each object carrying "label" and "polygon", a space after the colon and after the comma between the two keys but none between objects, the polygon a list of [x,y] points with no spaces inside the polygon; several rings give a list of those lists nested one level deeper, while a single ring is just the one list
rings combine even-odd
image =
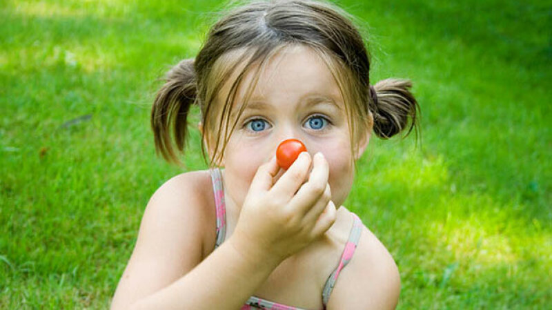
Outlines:
[{"label": "shorter curled brown pigtail on the right of girl's head", "polygon": [[371,86],[371,101],[374,104],[373,128],[378,137],[388,139],[400,133],[408,125],[409,117],[411,124],[404,137],[410,134],[413,128],[416,128],[418,133],[420,106],[410,88],[412,82],[408,79],[384,79]]}]

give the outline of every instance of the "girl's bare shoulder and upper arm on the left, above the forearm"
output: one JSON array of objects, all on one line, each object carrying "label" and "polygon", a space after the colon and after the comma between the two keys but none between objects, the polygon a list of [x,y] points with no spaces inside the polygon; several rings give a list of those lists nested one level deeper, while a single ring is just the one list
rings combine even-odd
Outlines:
[{"label": "girl's bare shoulder and upper arm on the left, above the forearm", "polygon": [[208,171],[182,173],[153,193],[112,308],[167,287],[203,260],[206,229],[213,229],[204,208],[209,178]]}]

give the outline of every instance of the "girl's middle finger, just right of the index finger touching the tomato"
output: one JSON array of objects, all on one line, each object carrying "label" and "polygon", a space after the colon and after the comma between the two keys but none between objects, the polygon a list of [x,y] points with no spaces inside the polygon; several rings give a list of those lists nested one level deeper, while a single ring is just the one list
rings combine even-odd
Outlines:
[{"label": "girl's middle finger, just right of the index finger touching the tomato", "polygon": [[[313,160],[313,171],[308,177],[308,182],[303,184],[297,194],[292,198],[293,204],[303,215],[313,208],[316,202],[324,195],[328,185],[330,168],[322,153],[317,153]],[[330,197],[328,197],[329,199]]]}]

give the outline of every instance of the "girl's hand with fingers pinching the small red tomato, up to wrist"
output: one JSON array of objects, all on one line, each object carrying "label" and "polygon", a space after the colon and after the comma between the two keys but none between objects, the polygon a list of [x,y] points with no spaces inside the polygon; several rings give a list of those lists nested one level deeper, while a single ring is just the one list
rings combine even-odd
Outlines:
[{"label": "girl's hand with fingers pinching the small red tomato, up to wrist", "polygon": [[259,166],[230,238],[240,253],[251,259],[270,255],[285,260],[333,225],[336,209],[328,184],[328,162],[317,153],[312,164],[308,176],[311,155],[302,152],[275,184],[276,157]]}]

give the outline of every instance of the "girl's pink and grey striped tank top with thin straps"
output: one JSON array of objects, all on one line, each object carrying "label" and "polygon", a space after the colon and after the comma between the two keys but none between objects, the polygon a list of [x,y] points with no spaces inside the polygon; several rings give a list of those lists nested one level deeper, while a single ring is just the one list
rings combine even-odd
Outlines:
[{"label": "girl's pink and grey striped tank top with thin straps", "polygon": [[[219,168],[210,169],[211,180],[213,181],[213,191],[215,193],[215,206],[217,213],[217,242],[215,243],[215,249],[224,242],[224,237],[226,235],[226,207],[224,203],[224,186],[222,183],[221,172]],[[330,294],[335,286],[337,277],[346,264],[353,258],[353,253],[358,244],[360,238],[360,233],[362,232],[362,221],[359,217],[353,213],[354,222],[353,227],[351,228],[351,233],[349,235],[348,241],[343,250],[339,264],[328,276],[324,289],[322,291],[322,304],[324,305],[324,310],[326,309],[326,304],[330,299]],[[279,304],[270,300],[258,298],[251,296],[246,304],[242,307],[241,310],[253,310],[253,309],[273,309],[273,310],[306,310],[293,306],[286,306],[285,304]]]}]

